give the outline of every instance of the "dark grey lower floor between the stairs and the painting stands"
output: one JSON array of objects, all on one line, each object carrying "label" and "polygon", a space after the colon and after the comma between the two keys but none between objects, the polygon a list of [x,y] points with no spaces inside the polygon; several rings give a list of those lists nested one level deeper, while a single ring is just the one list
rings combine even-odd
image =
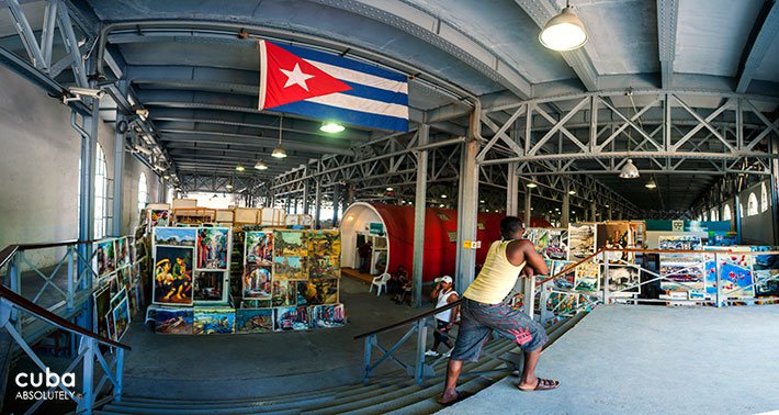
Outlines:
[{"label": "dark grey lower floor between the stairs and the painting stands", "polygon": [[[157,335],[134,322],[122,343],[124,393],[132,396],[184,400],[248,399],[355,383],[362,380],[363,341],[353,336],[381,328],[432,309],[395,305],[376,298],[369,285],[341,279],[345,327],[311,332],[242,335]],[[138,318],[139,319],[139,318]],[[380,336],[391,346],[405,329]],[[432,336],[429,336],[432,337]],[[406,352],[415,343],[406,343]],[[432,343],[432,338],[429,339]],[[403,352],[402,352],[403,355]],[[395,370],[392,363],[384,364]],[[204,382],[213,381],[213,382]]]}]

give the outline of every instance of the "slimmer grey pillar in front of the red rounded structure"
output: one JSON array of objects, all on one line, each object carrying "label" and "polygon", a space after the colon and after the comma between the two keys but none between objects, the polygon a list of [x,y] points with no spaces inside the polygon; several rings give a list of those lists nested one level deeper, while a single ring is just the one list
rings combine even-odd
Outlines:
[{"label": "slimmer grey pillar in front of the red rounded structure", "polygon": [[[417,143],[419,143],[419,146],[427,145],[430,136],[430,126],[427,124],[419,125]],[[417,156],[417,187],[414,198],[414,265],[411,269],[414,295],[411,301],[415,307],[420,307],[422,305],[422,269],[425,265],[428,150],[424,149],[415,153]]]}]

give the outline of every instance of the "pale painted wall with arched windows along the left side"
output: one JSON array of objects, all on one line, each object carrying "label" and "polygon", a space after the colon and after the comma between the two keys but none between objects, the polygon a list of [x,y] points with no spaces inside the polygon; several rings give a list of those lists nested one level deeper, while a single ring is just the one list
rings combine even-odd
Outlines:
[{"label": "pale painted wall with arched windows along the left side", "polygon": [[[70,126],[70,109],[4,67],[0,67],[0,249],[19,243],[75,239],[81,138]],[[113,131],[113,125],[101,123],[98,134],[110,178]],[[131,223],[137,223],[140,171],[147,175],[153,198],[158,194],[157,176],[125,155],[123,234],[131,232]],[[46,249],[25,256],[35,266],[47,266],[61,255]]]}]

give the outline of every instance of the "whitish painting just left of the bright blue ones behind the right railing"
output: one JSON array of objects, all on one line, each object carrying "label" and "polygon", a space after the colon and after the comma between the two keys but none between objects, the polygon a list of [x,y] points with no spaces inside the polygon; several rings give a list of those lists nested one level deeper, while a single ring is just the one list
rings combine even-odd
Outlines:
[{"label": "whitish painting just left of the bright blue ones behind the right railing", "polygon": [[661,290],[689,291],[692,296],[700,296],[704,292],[704,260],[703,255],[697,254],[661,254]]}]

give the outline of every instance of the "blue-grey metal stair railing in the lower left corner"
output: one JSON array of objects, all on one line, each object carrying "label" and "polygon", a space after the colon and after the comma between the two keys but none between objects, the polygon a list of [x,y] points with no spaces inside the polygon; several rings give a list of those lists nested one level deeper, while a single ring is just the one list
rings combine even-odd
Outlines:
[{"label": "blue-grey metal stair railing in the lower left corner", "polygon": [[[81,313],[91,313],[89,299],[92,294],[92,278],[95,276],[92,267],[94,254],[86,258],[77,248],[79,245],[94,242],[12,245],[0,251],[0,269],[8,267],[10,285],[0,285],[0,326],[5,328],[15,344],[42,371],[47,371],[48,368],[31,345],[55,329],[65,330],[78,338],[74,352],[76,356],[64,373],[74,373],[81,364],[81,390],[77,391],[75,384],[68,386],[59,382],[56,386],[50,386],[46,394],[60,390],[67,399],[76,403],[77,413],[87,414],[111,400],[120,399],[124,350],[131,349],[129,346],[97,335],[68,321]],[[65,248],[66,251],[48,276],[24,257],[25,250],[46,248]],[[23,292],[21,263],[27,265],[33,274],[43,279],[43,285],[32,290],[34,292]],[[63,281],[58,280],[61,278],[59,271],[64,265],[67,265],[65,288],[61,287]],[[48,300],[45,306],[36,304],[36,301],[44,299]],[[106,386],[108,390],[104,391]],[[38,400],[25,413],[34,413],[44,402]]]}]

